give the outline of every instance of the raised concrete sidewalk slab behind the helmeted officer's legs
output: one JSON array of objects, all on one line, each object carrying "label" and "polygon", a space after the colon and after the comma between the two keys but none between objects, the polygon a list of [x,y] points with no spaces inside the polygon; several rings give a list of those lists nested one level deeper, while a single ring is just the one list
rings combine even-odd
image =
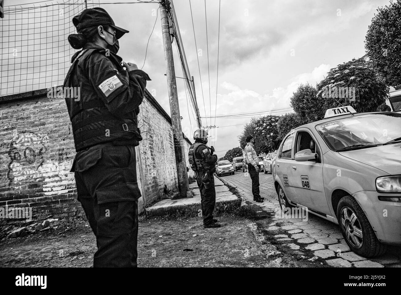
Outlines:
[{"label": "raised concrete sidewalk slab behind the helmeted officer's legs", "polygon": [[[164,216],[176,215],[185,217],[195,217],[200,214],[201,208],[201,193],[199,192],[196,182],[189,185],[190,191],[193,193],[192,198],[184,199],[163,199],[154,205],[145,209],[146,216]],[[223,181],[215,177],[216,189],[216,205],[215,213],[225,211],[226,213],[239,209],[241,199],[229,191],[229,188],[224,185]],[[228,211],[228,212],[227,212]]]}]

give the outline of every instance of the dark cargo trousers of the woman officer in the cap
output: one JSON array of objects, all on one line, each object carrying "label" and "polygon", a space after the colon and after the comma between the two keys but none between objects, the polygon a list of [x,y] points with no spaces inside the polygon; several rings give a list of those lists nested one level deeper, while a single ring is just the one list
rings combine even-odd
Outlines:
[{"label": "dark cargo trousers of the woman officer in the cap", "polygon": [[134,146],[98,144],[75,157],[81,202],[96,236],[93,267],[136,267],[138,198]]}]

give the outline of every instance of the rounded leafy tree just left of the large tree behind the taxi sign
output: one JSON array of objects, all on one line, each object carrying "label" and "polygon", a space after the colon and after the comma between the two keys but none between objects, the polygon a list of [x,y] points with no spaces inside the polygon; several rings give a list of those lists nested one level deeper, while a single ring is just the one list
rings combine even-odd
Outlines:
[{"label": "rounded leafy tree just left of the large tree behind the taxi sign", "polygon": [[290,105],[303,124],[320,120],[326,112],[326,109],[323,108],[322,98],[316,96],[317,93],[315,87],[306,83],[300,84],[297,91],[292,94]]}]

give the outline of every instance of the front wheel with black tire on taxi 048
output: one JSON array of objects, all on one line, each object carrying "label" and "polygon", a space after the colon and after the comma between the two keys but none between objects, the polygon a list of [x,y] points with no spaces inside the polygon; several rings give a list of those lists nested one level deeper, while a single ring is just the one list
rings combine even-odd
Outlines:
[{"label": "front wheel with black tire on taxi 048", "polygon": [[337,218],[342,236],[353,252],[366,258],[386,252],[387,246],[377,239],[362,208],[350,195],[346,195],[338,202]]}]

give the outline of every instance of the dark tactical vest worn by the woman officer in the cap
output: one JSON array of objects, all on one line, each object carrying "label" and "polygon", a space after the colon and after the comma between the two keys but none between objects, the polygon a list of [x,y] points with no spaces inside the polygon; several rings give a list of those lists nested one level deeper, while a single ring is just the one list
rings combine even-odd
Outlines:
[{"label": "dark tactical vest worn by the woman officer in the cap", "polygon": [[[127,113],[126,117],[123,118],[113,116],[107,110],[102,99],[93,95],[96,92],[89,77],[87,77],[87,73],[82,72],[82,75],[77,77],[77,66],[85,68],[85,63],[87,63],[90,55],[98,50],[83,49],[73,60],[64,81],[64,87],[82,85],[81,97],[78,101],[75,101],[74,98],[65,97],[77,152],[95,144],[115,140],[122,140],[137,146],[139,141],[142,140],[137,119],[139,108],[137,111]],[[118,63],[112,55],[110,55],[110,59],[113,63]]]}]

